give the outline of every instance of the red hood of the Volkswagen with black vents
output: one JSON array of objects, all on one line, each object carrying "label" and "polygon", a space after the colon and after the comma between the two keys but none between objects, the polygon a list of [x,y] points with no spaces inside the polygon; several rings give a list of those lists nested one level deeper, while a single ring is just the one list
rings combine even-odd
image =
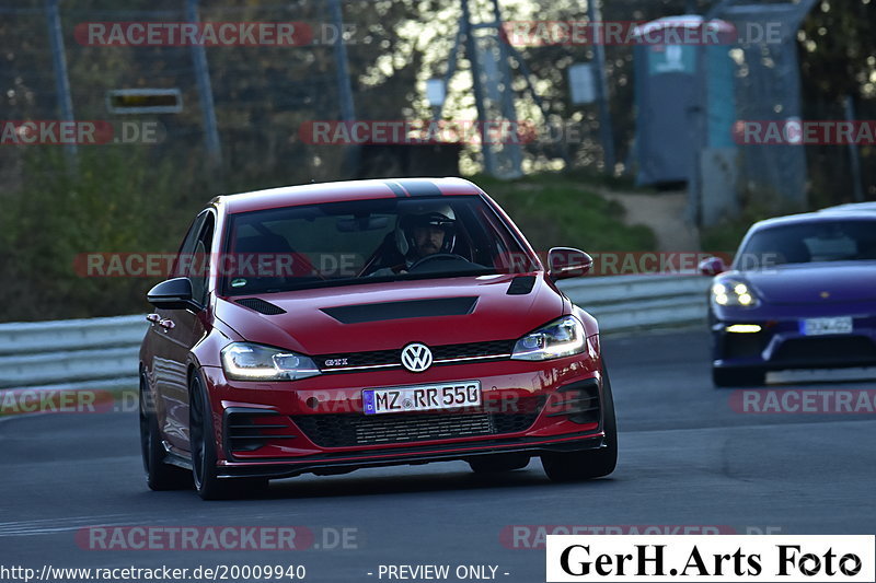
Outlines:
[{"label": "red hood of the Volkswagen with black vents", "polygon": [[[518,277],[522,276],[370,283],[260,295],[286,311],[276,315],[238,304],[242,298],[219,299],[216,315],[251,342],[306,354],[389,350],[414,341],[440,346],[509,340],[562,316],[565,310],[562,295],[541,275],[529,293],[508,294],[511,280]],[[428,315],[438,304],[445,313],[464,313]],[[415,317],[400,317],[403,312],[415,313]],[[361,319],[370,322],[356,322]]]}]

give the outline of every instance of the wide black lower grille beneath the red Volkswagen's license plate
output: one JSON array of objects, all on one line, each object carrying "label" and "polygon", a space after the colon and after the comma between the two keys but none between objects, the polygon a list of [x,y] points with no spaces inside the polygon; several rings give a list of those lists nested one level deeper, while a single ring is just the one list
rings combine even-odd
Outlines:
[{"label": "wide black lower grille beneath the red Volkswagen's license plate", "polygon": [[535,405],[521,407],[521,412],[302,415],[292,421],[320,447],[349,447],[516,433],[532,427],[540,409]]}]

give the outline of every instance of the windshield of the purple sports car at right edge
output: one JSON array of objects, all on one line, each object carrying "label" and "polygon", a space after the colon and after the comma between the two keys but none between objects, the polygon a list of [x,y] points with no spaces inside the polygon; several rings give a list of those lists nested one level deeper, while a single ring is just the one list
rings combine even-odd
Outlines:
[{"label": "windshield of the purple sports car at right edge", "polygon": [[867,260],[876,260],[876,219],[838,219],[760,229],[748,240],[735,266]]}]

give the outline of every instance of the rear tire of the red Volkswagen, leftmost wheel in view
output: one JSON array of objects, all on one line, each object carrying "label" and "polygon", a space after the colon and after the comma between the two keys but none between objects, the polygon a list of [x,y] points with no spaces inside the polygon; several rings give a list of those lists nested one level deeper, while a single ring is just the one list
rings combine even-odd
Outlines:
[{"label": "rear tire of the red Volkswagen, leftmost wheel in view", "polygon": [[146,377],[140,374],[140,454],[143,458],[146,483],[150,490],[183,490],[192,488],[192,475],[183,468],[164,463],[166,453],[161,444],[154,399]]}]

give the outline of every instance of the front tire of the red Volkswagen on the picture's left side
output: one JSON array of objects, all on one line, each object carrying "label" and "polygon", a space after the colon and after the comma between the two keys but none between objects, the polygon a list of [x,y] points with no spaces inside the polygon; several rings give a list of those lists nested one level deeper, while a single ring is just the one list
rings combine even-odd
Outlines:
[{"label": "front tire of the red Volkswagen on the picture's left side", "polygon": [[267,487],[264,478],[219,478],[216,471],[216,440],[207,389],[195,373],[188,385],[188,434],[192,448],[192,478],[204,500],[242,498]]}]

